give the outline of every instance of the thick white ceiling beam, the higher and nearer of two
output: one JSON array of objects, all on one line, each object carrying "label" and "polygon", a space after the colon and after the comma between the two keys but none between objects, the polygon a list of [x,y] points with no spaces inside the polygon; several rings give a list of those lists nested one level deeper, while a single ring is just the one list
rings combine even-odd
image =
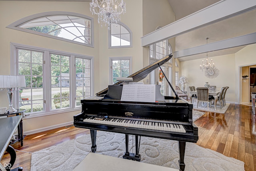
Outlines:
[{"label": "thick white ceiling beam, the higher and nearer of two", "polygon": [[141,46],[174,38],[254,9],[256,0],[222,0],[143,36]]}]

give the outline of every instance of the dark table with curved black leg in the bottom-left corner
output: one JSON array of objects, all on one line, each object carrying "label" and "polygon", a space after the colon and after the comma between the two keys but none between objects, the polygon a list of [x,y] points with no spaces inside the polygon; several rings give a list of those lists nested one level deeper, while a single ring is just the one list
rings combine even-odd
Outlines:
[{"label": "dark table with curved black leg in the bottom-left corner", "polygon": [[[0,159],[2,159],[5,151],[8,152],[11,157],[9,163],[3,163],[3,165],[0,163],[0,170],[2,171],[10,171],[16,160],[16,152],[9,144],[16,127],[20,125],[21,121],[21,115],[0,119]],[[22,167],[12,169],[12,171],[22,171]]]}]

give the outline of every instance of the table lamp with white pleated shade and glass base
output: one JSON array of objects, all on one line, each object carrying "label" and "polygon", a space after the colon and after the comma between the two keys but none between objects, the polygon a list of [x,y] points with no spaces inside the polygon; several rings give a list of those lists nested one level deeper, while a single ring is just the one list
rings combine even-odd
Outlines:
[{"label": "table lamp with white pleated shade and glass base", "polygon": [[8,112],[17,111],[12,107],[13,91],[18,90],[19,87],[26,87],[25,76],[0,76],[0,90],[7,89],[7,97],[9,101]]}]

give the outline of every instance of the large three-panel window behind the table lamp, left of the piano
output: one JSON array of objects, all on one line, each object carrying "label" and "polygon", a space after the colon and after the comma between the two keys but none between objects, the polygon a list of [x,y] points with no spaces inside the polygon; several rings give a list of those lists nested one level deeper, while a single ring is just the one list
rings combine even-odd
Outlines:
[{"label": "large three-panel window behind the table lamp, left of the piano", "polygon": [[[17,92],[16,108],[42,114],[81,106],[92,92],[92,58],[12,44],[12,74],[24,75],[26,87]],[[14,96],[15,97],[15,96]]]}]

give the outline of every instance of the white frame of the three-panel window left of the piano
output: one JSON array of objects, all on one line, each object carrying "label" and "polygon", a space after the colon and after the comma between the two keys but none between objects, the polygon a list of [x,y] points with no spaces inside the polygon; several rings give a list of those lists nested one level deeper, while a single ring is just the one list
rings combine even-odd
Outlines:
[{"label": "white frame of the three-panel window left of the piano", "polygon": [[[10,75],[18,75],[18,56],[16,56],[16,49],[26,49],[26,50],[32,50],[32,51],[38,51],[38,52],[44,52],[44,78],[43,78],[43,87],[44,87],[44,111],[30,113],[29,116],[26,116],[26,118],[33,118],[33,117],[41,117],[46,115],[53,115],[58,113],[66,113],[76,110],[81,110],[81,106],[76,106],[76,71],[75,71],[75,57],[78,58],[85,58],[90,60],[90,66],[91,66],[91,82],[90,82],[90,89],[91,89],[91,96],[94,94],[94,58],[92,56],[85,56],[80,54],[74,54],[70,52],[62,52],[58,50],[51,50],[46,48],[40,48],[35,46],[28,46],[23,44],[17,44],[17,43],[10,43]],[[50,66],[50,54],[59,54],[59,55],[65,55],[70,56],[70,107],[65,108],[65,110],[62,109],[54,109],[51,110],[51,94],[47,93],[50,92],[50,86],[51,86],[51,70],[50,68],[47,68]],[[72,67],[73,66],[73,67]],[[20,108],[19,107],[19,93],[18,91],[14,91],[14,97],[13,97],[13,105],[14,108]]]}]

